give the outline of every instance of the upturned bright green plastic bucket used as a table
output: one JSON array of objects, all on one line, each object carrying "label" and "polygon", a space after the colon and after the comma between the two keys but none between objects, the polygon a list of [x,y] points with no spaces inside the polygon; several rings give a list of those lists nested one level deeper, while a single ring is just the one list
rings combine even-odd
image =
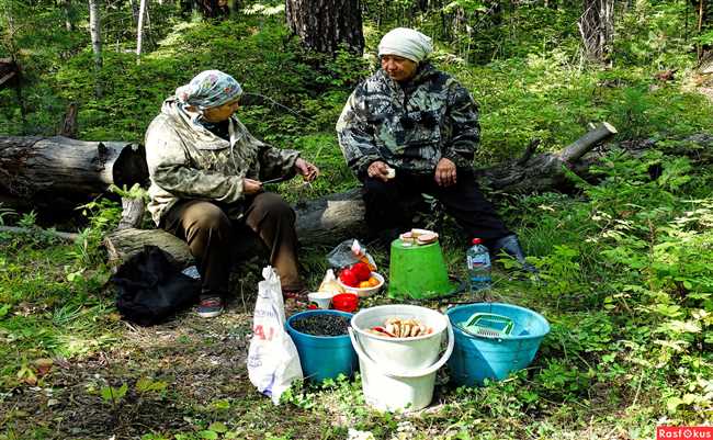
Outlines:
[{"label": "upturned bright green plastic bucket used as a table", "polygon": [[416,300],[444,296],[455,291],[450,282],[441,245],[392,241],[388,269],[388,296]]}]

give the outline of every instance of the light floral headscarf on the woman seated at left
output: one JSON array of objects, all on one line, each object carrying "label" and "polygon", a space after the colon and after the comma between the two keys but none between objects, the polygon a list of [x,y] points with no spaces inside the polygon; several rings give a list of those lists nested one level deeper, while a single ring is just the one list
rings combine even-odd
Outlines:
[{"label": "light floral headscarf on the woman seated at left", "polygon": [[242,94],[240,83],[220,70],[204,70],[176,89],[178,100],[200,110],[220,106]]}]

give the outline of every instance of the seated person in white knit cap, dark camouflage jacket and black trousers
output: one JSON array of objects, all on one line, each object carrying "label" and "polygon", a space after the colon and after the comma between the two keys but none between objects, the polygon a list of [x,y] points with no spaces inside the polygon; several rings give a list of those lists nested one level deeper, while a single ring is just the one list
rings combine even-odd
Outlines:
[{"label": "seated person in white knit cap, dark camouflage jacket and black trousers", "polygon": [[426,60],[432,50],[431,38],[412,29],[384,35],[382,68],[356,87],[337,123],[347,163],[363,183],[366,223],[391,242],[412,226],[416,201],[430,194],[468,238],[482,238],[494,255],[505,250],[533,270],[475,180],[477,104]]}]

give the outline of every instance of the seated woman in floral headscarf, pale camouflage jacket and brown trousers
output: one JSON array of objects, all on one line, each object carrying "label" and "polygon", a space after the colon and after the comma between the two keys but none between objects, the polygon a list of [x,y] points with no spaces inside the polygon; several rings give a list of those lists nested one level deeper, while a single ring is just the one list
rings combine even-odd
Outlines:
[{"label": "seated woman in floral headscarf, pale camouflage jacket and brown trousers", "polygon": [[163,101],[146,132],[148,210],[159,227],[188,242],[201,275],[203,317],[223,312],[231,249],[245,239],[244,226],[267,246],[283,294],[304,291],[295,213],[261,181],[296,173],[312,181],[319,170],[296,150],[254,138],[235,115],[241,93],[229,75],[203,71]]}]

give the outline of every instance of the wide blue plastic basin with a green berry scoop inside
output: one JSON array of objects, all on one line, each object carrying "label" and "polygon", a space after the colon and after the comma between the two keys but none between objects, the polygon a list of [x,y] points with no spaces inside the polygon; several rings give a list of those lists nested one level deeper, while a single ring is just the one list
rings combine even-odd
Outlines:
[{"label": "wide blue plastic basin with a green berry scoop inside", "polygon": [[[495,313],[513,320],[509,336],[489,339],[472,336],[459,325],[474,313]],[[456,306],[445,312],[455,335],[455,347],[449,360],[451,380],[456,385],[483,385],[483,381],[500,381],[511,372],[530,365],[540,342],[550,332],[550,323],[542,315],[524,307],[501,303],[477,303]]]}]

